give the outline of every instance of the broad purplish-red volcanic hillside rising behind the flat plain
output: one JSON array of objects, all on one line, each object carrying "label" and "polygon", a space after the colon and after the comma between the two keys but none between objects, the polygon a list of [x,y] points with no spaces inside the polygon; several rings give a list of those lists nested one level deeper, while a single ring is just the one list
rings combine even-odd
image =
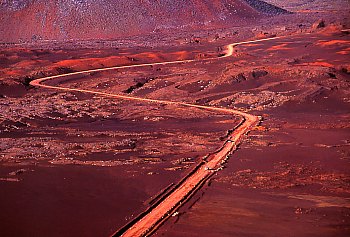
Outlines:
[{"label": "broad purplish-red volcanic hillside rising behind the flat plain", "polygon": [[284,13],[265,4],[257,0],[4,0],[0,1],[0,41],[110,39],[244,24]]}]

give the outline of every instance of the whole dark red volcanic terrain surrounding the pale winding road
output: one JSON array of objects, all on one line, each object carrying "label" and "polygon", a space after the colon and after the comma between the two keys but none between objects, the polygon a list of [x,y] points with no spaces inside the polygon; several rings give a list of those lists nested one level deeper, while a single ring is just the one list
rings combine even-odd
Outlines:
[{"label": "whole dark red volcanic terrain surrounding the pale winding road", "polygon": [[[155,236],[347,236],[350,24],[340,19],[346,9],[339,15],[328,14],[327,8],[325,15],[263,19],[266,5],[258,12],[243,1],[183,1],[186,10],[181,1],[149,2],[143,1],[142,8],[136,1],[123,6],[104,1],[99,7],[96,1],[1,3],[0,30],[10,41],[33,34],[35,39],[115,37],[124,32],[122,24],[115,24],[119,20],[130,34],[203,29],[115,41],[2,44],[1,235],[109,236],[220,148],[241,121],[175,104],[36,88],[31,81],[93,68],[196,59],[46,84],[262,116],[226,168],[171,213]],[[296,9],[296,1],[269,2]],[[236,8],[245,12],[229,14]],[[99,14],[111,16],[113,23],[100,22]],[[242,24],[247,17],[259,17],[265,26],[215,28],[236,20]],[[332,22],[334,17],[341,21]],[[206,30],[212,19],[215,27]],[[22,22],[32,23],[24,29]],[[225,45],[268,36],[278,37],[235,46],[231,57],[222,57]]]}]

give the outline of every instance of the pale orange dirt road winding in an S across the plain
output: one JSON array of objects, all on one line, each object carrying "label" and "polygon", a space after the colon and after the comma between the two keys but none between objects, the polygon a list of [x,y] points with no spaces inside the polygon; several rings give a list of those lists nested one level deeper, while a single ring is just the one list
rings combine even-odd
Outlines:
[{"label": "pale orange dirt road winding in an S across the plain", "polygon": [[259,118],[234,109],[226,109],[226,108],[218,108],[212,106],[205,105],[197,105],[190,104],[184,102],[176,102],[176,101],[166,101],[166,100],[156,100],[156,99],[147,99],[147,98],[139,98],[132,97],[126,95],[112,94],[112,93],[104,93],[93,90],[84,90],[84,89],[75,89],[75,88],[67,88],[61,86],[52,86],[46,85],[44,82],[63,78],[73,75],[80,75],[92,72],[101,72],[101,71],[109,71],[116,69],[128,69],[128,68],[137,68],[137,67],[146,67],[146,66],[154,66],[154,65],[169,65],[169,64],[179,64],[179,63],[190,63],[196,61],[207,61],[214,59],[222,59],[227,58],[233,55],[234,47],[237,45],[248,44],[248,43],[256,43],[261,41],[268,41],[278,39],[280,37],[259,39],[259,40],[251,40],[251,41],[243,41],[238,43],[229,44],[226,46],[225,55],[219,58],[208,58],[208,59],[189,59],[189,60],[179,60],[179,61],[168,61],[168,62],[156,62],[156,63],[146,63],[146,64],[137,64],[137,65],[128,65],[128,66],[116,66],[116,67],[107,67],[107,68],[99,68],[92,70],[85,70],[79,72],[66,73],[55,76],[48,76],[33,80],[30,82],[30,85],[35,87],[42,87],[47,89],[54,90],[62,90],[62,91],[72,91],[72,92],[82,92],[89,93],[103,97],[123,99],[123,100],[133,100],[133,101],[141,101],[147,103],[157,103],[157,104],[168,104],[168,105],[176,105],[176,106],[185,106],[191,108],[199,108],[210,111],[215,111],[217,113],[224,114],[234,114],[243,117],[243,121],[240,123],[238,127],[228,136],[227,140],[224,142],[223,146],[216,151],[215,153],[209,155],[202,164],[200,164],[196,170],[189,173],[184,179],[178,183],[173,190],[165,195],[156,205],[152,206],[147,210],[144,215],[139,216],[138,219],[134,220],[132,225],[128,226],[127,229],[122,231],[117,231],[113,236],[123,236],[123,237],[137,237],[137,236],[147,236],[152,231],[154,231],[161,223],[163,223],[177,208],[179,208],[188,198],[193,195],[195,191],[197,191],[201,185],[213,175],[214,172],[217,172],[222,168],[222,163],[224,163],[230,153],[236,149],[237,144],[240,142],[242,136],[246,134],[253,126],[255,126]]}]

